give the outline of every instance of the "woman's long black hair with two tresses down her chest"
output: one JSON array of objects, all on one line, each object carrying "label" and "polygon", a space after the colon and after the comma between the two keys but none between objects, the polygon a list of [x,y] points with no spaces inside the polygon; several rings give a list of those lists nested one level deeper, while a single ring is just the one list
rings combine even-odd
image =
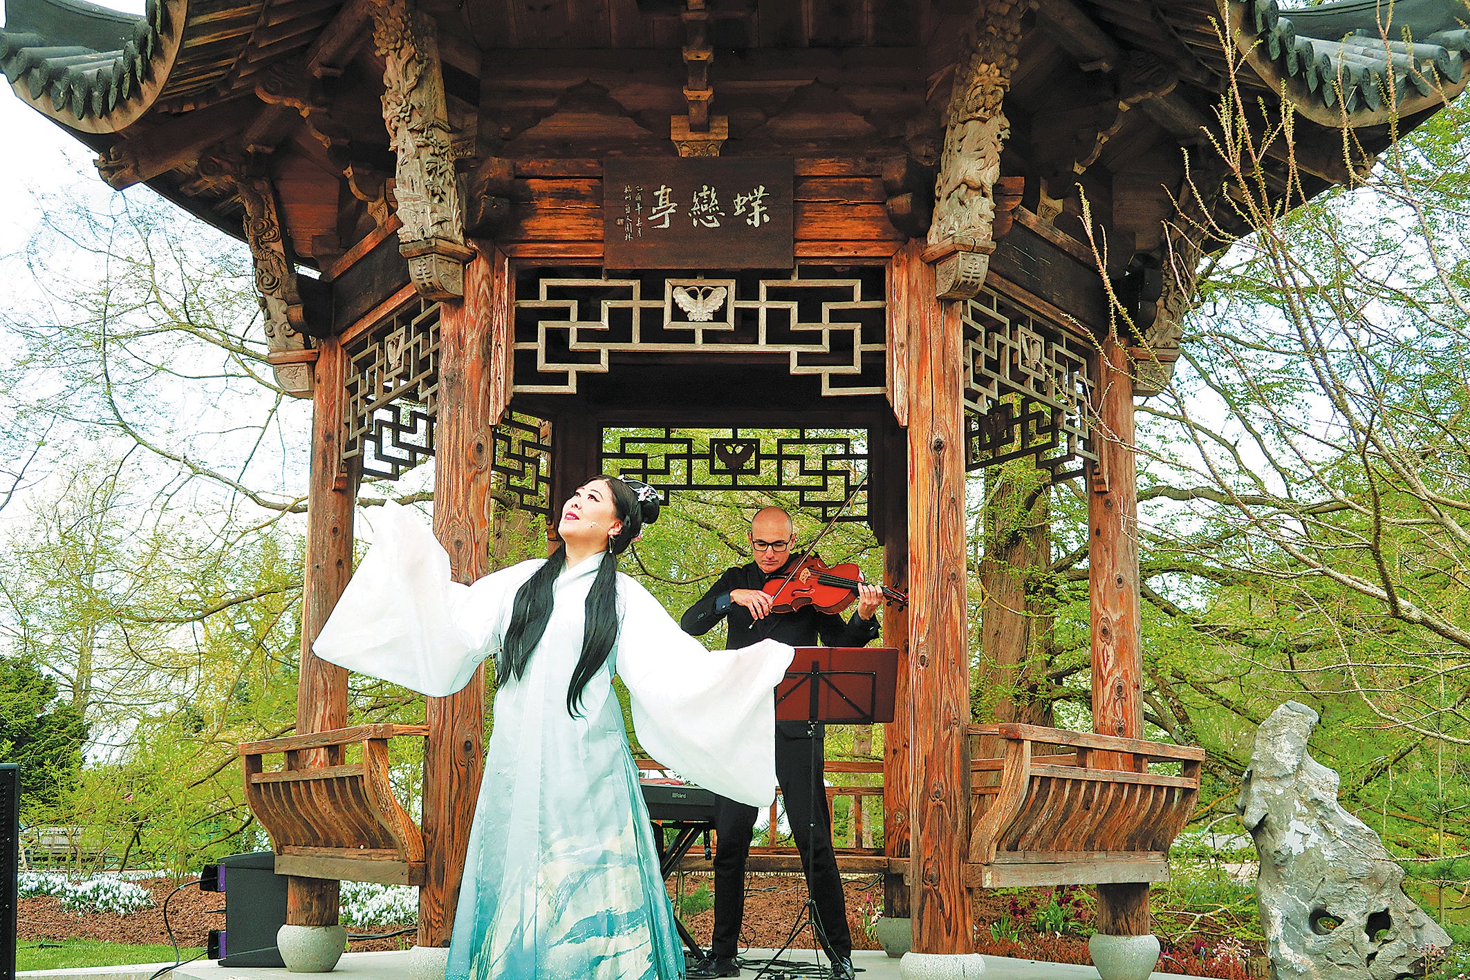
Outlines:
[{"label": "woman's long black hair with two tresses down her chest", "polygon": [[[607,663],[607,655],[613,652],[613,644],[617,642],[617,555],[634,542],[644,525],[659,520],[659,495],[651,488],[644,489],[645,483],[623,480],[606,473],[587,482],[594,480],[607,480],[613,491],[613,507],[623,526],[617,535],[609,538],[607,551],[603,552],[597,577],[592,580],[592,589],[587,594],[582,657],[576,661],[576,669],[572,670],[572,683],[566,689],[566,711],[572,717],[576,717],[581,710],[587,682]],[[541,642],[541,636],[547,632],[547,623],[551,620],[556,579],[564,569],[566,545],[563,544],[516,592],[516,601],[510,607],[506,641],[500,657],[495,658],[495,683],[503,685],[510,679],[519,680],[526,671],[531,651]]]}]

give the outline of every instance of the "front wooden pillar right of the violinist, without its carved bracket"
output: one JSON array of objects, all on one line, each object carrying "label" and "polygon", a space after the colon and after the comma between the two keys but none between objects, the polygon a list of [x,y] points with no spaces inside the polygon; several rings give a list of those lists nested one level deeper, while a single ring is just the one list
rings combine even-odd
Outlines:
[{"label": "front wooden pillar right of the violinist, without its carved bracket", "polygon": [[973,949],[970,893],[970,655],[964,567],[963,303],[935,298],[917,256],[908,344],[908,683],[913,698],[914,952]]}]

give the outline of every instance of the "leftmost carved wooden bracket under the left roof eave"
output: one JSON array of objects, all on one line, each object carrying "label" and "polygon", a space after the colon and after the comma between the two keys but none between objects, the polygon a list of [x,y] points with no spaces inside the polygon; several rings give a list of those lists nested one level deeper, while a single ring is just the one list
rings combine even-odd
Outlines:
[{"label": "leftmost carved wooden bracket under the left roof eave", "polygon": [[270,178],[240,153],[218,147],[201,154],[194,187],[229,192],[244,209],[245,241],[256,270],[256,298],[265,317],[268,359],[276,383],[288,395],[312,397],[312,360],[306,310],[297,285],[295,263],[281,226],[281,210]]}]

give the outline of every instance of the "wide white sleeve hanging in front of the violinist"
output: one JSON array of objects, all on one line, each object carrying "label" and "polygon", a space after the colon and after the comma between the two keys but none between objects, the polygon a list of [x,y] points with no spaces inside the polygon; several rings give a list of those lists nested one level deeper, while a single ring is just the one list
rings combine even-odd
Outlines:
[{"label": "wide white sleeve hanging in front of the violinist", "polygon": [[795,651],[772,639],[706,649],[641,585],[619,576],[617,673],[638,742],[722,796],[769,807],[776,796],[776,696]]}]

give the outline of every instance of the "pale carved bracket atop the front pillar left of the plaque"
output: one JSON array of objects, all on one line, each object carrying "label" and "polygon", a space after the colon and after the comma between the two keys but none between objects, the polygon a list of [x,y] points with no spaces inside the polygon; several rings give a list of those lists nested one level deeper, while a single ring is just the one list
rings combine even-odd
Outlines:
[{"label": "pale carved bracket atop the front pillar left of the plaque", "polygon": [[407,0],[372,0],[373,48],[384,59],[382,118],[398,156],[394,198],[400,250],[426,298],[465,294],[465,215],[434,21]]}]

